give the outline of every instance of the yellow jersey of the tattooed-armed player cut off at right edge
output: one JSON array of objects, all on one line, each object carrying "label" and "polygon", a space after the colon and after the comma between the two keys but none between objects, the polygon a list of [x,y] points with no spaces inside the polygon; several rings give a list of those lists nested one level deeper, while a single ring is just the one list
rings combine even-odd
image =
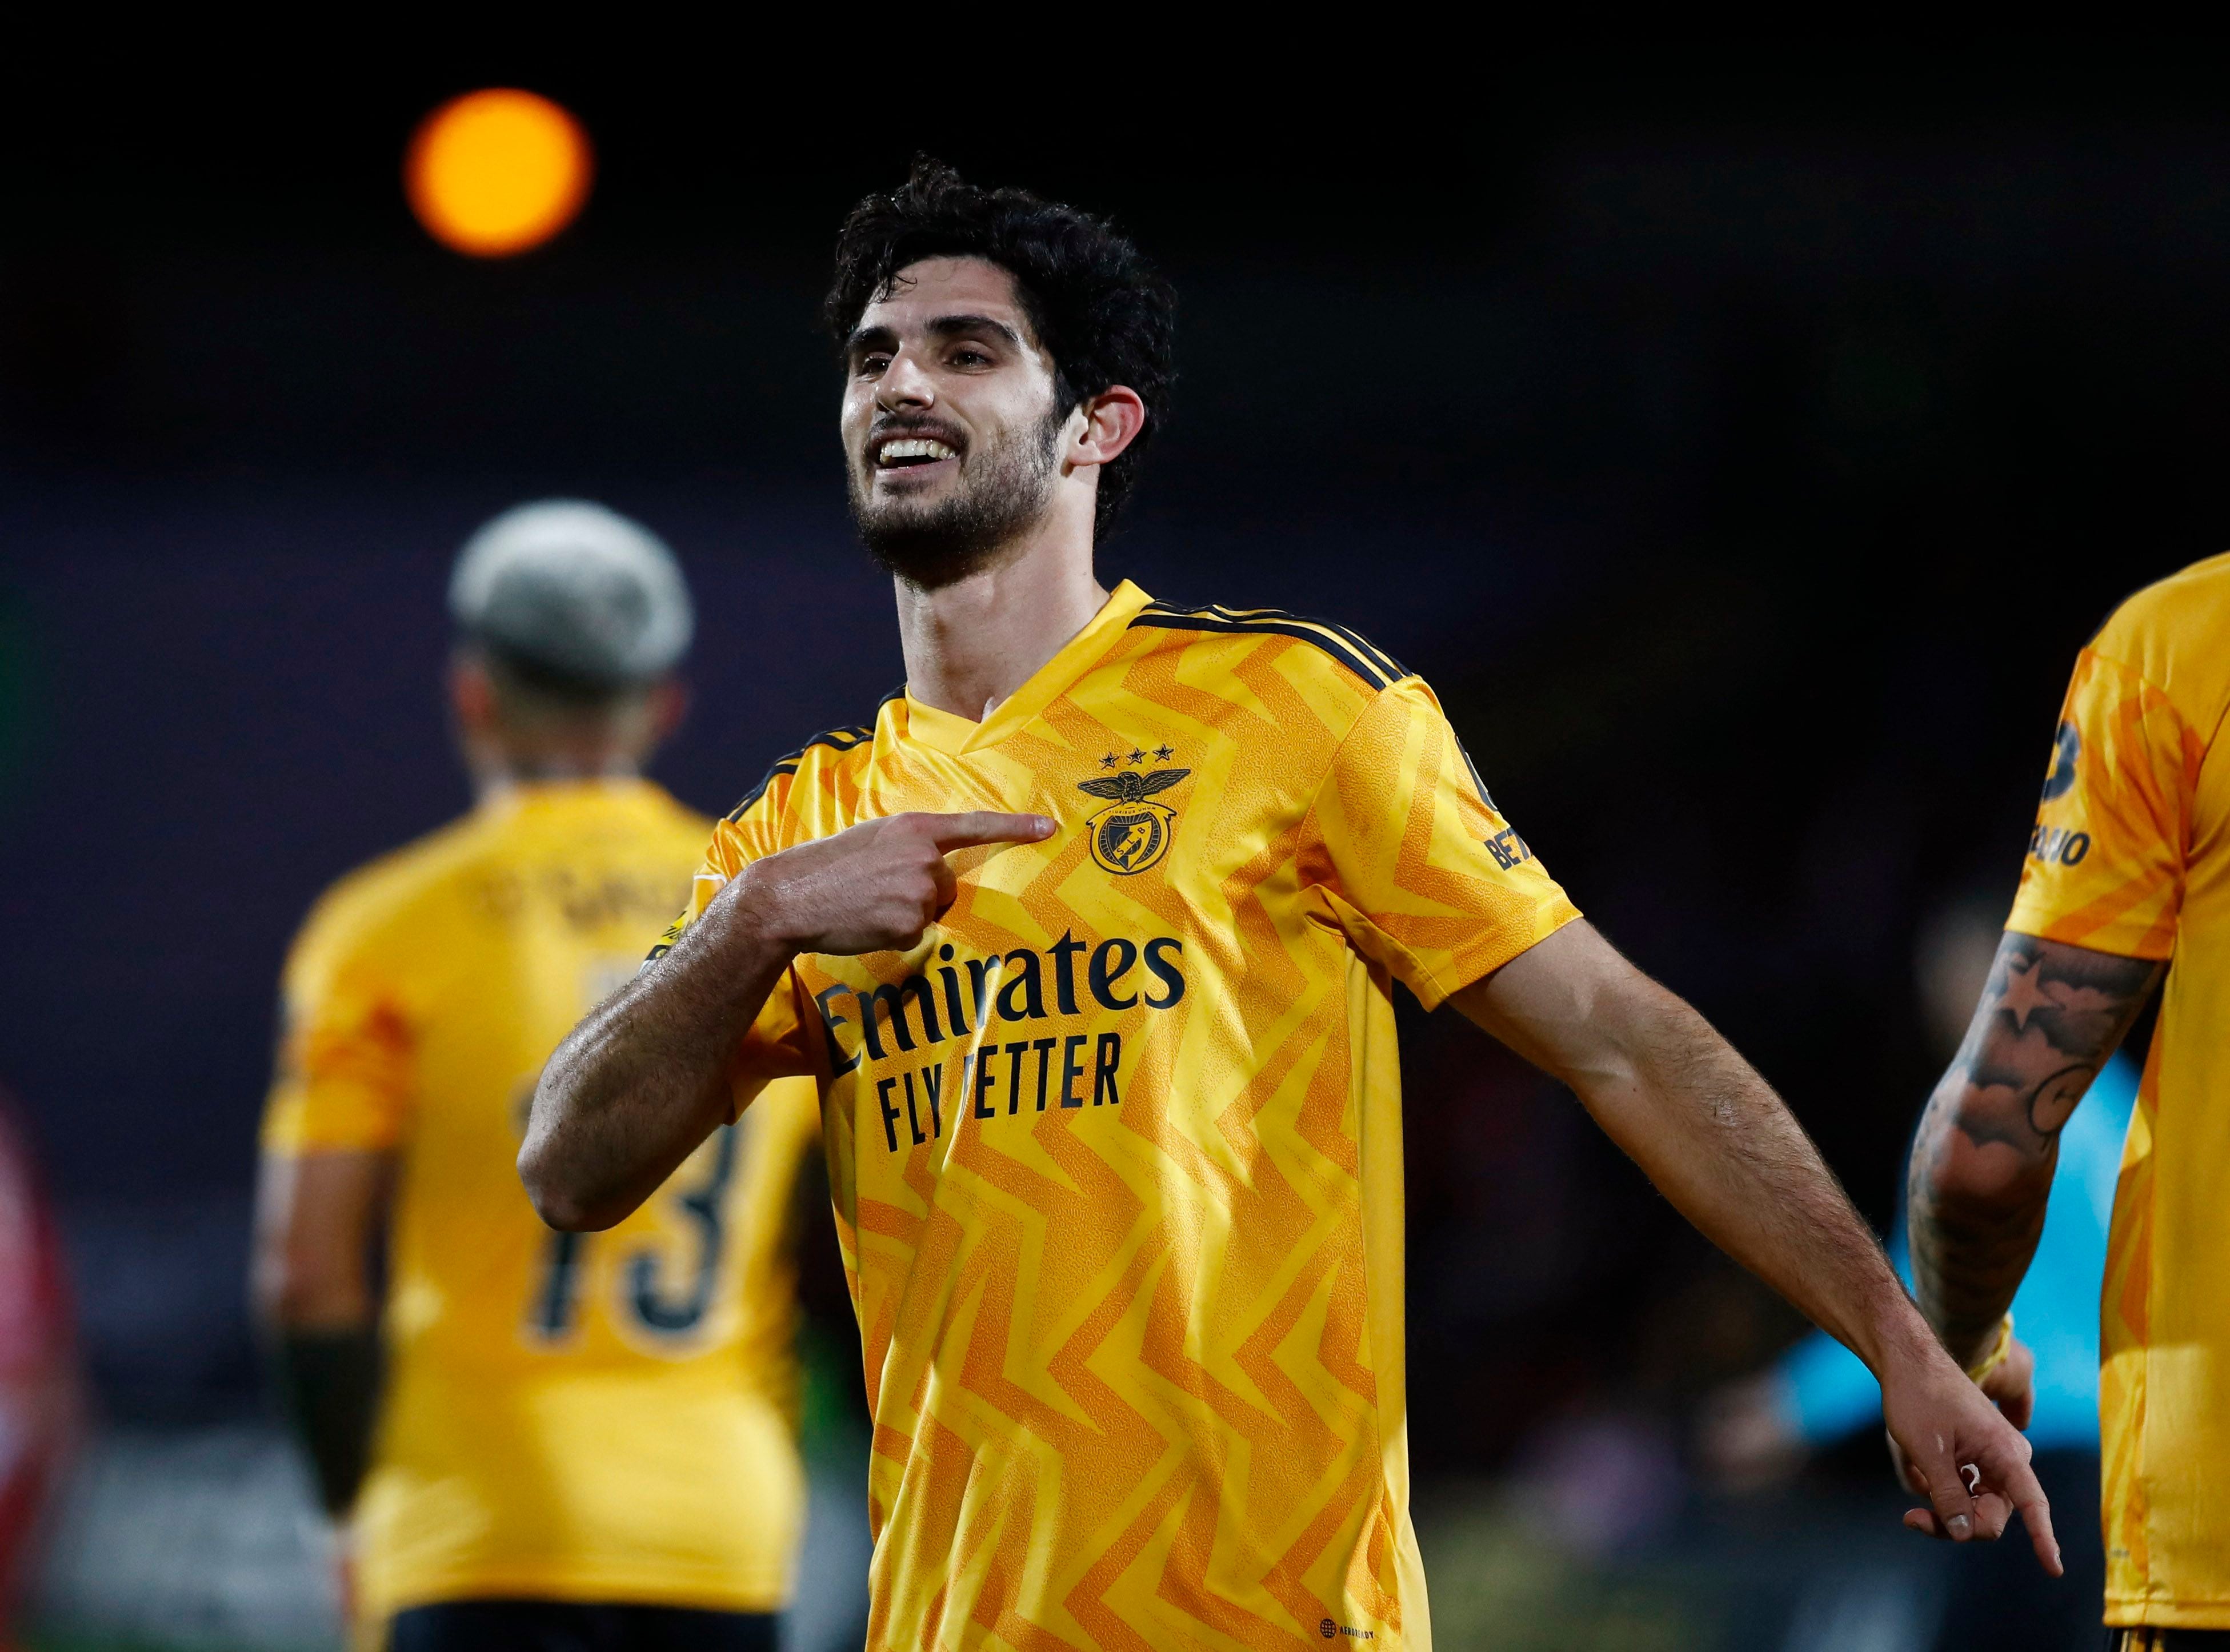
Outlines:
[{"label": "yellow jersey of the tattooed-armed player cut off at right edge", "polygon": [[2098,1380],[2107,1612],[2230,1630],[2230,555],[2083,649],[2009,927],[2170,959],[2123,1148]]}]

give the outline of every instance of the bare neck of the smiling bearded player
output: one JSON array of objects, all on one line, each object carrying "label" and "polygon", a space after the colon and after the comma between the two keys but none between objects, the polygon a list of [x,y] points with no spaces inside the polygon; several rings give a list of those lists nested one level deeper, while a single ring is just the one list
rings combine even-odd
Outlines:
[{"label": "bare neck of the smiling bearded player", "polygon": [[905,691],[981,722],[1088,626],[1108,600],[1093,577],[1088,522],[1082,535],[1039,531],[937,591],[899,580]]}]

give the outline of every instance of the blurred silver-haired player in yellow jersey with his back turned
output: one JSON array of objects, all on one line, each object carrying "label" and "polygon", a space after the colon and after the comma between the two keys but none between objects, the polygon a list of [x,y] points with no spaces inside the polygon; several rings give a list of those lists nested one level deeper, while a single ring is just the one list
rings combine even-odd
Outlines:
[{"label": "blurred silver-haired player in yellow jersey with his back turned", "polygon": [[649,533],[553,502],[466,546],[450,606],[479,807],[317,905],[263,1128],[256,1295],[355,1538],[357,1645],[767,1650],[803,1518],[787,1237],[812,1086],[593,1240],[551,1233],[513,1170],[542,1059],[702,849],[638,774],[680,709],[689,597]]}]

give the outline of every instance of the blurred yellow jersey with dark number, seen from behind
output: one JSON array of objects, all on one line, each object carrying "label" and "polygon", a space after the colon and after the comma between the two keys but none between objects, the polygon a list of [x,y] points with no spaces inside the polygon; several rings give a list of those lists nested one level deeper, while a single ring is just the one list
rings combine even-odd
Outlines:
[{"label": "blurred yellow jersey with dark number, seen from behind", "polygon": [[814,1088],[769,1090],[609,1233],[551,1233],[515,1170],[544,1057],[640,963],[705,832],[649,783],[531,787],[346,878],[288,961],[265,1150],[399,1173],[368,1630],[471,1596],[787,1601]]}]

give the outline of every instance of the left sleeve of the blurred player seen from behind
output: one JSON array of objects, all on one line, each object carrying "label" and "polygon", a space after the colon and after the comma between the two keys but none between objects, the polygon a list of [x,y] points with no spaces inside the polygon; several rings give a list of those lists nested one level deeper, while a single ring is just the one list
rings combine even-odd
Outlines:
[{"label": "left sleeve of the blurred player seen from behind", "polygon": [[413,1030],[399,983],[368,936],[312,914],[279,994],[279,1072],[263,1108],[263,1150],[388,1150],[415,1088]]}]

